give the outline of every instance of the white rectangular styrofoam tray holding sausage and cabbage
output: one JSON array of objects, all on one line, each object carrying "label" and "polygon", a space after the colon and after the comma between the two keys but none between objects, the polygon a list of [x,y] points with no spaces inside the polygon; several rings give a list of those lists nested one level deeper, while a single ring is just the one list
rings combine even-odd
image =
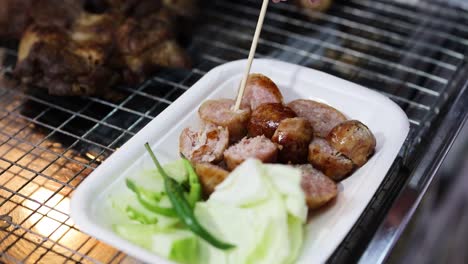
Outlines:
[{"label": "white rectangular styrofoam tray holding sausage and cabbage", "polygon": [[[154,253],[117,236],[105,200],[121,192],[126,177],[152,168],[143,144],[149,142],[163,162],[178,158],[179,134],[199,123],[197,110],[209,98],[234,98],[246,62],[235,61],[207,73],[185,94],[117,150],[81,183],[71,201],[71,215],[80,229],[127,254],[148,263],[170,263]],[[351,177],[340,183],[338,199],[315,213],[305,231],[298,263],[321,263],[328,259],[350,231],[384,179],[409,132],[405,113],[381,94],[340,78],[274,60],[255,60],[252,72],[270,77],[285,101],[314,99],[365,123],[377,139],[376,153]]]}]

